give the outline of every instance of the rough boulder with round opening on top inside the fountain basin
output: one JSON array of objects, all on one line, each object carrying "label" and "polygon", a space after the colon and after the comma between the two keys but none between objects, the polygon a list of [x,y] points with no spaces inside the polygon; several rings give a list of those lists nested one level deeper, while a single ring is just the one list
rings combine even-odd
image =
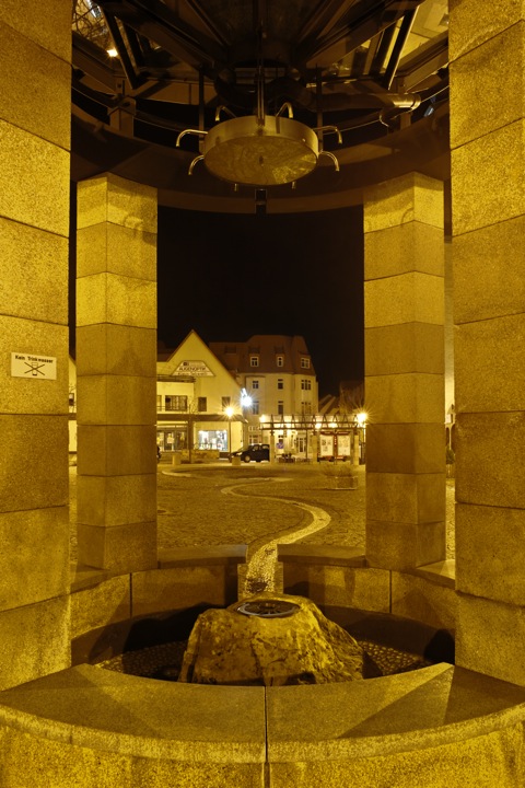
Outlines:
[{"label": "rough boulder with round opening on top inside the fountain basin", "polygon": [[[275,613],[279,609],[276,603],[283,603],[280,606],[289,612]],[[260,612],[250,614],[249,610]],[[243,604],[199,616],[178,681],[282,686],[376,675],[381,672],[360,645],[313,602],[287,594],[257,594]]]}]

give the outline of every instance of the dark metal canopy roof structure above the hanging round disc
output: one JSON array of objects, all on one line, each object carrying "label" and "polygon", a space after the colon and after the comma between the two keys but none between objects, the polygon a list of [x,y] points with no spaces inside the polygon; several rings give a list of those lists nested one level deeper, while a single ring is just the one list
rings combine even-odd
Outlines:
[{"label": "dark metal canopy roof structure above the hanging round disc", "polygon": [[357,202],[352,192],[408,169],[448,176],[446,0],[73,5],[73,179],[109,170],[165,204],[249,210],[250,186],[234,192],[205,166],[188,175],[202,136],[176,141],[283,106],[320,129],[338,169],[319,157],[293,188],[271,186],[276,210]]}]

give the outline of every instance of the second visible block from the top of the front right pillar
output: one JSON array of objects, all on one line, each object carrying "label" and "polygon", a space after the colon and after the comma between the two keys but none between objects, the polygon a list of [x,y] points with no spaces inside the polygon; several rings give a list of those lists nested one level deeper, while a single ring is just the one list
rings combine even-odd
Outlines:
[{"label": "second visible block from the top of the front right pillar", "polygon": [[[476,46],[451,65],[451,147],[458,148],[525,114],[523,60],[525,21]],[[501,85],[505,100],[501,101]],[[483,96],[477,112],[472,92]]]}]

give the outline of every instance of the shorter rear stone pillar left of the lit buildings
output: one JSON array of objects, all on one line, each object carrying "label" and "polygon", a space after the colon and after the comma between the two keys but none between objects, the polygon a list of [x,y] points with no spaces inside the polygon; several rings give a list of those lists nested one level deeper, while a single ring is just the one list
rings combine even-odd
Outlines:
[{"label": "shorter rear stone pillar left of the lit buildings", "polygon": [[156,192],[79,184],[79,563],[156,566]]}]

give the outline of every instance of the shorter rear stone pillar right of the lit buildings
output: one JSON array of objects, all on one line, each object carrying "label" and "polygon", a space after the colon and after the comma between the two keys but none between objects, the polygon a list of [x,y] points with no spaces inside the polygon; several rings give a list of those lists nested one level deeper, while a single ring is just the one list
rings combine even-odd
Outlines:
[{"label": "shorter rear stone pillar right of the lit buildings", "polygon": [[443,185],[418,173],[364,204],[366,558],[445,557]]}]

